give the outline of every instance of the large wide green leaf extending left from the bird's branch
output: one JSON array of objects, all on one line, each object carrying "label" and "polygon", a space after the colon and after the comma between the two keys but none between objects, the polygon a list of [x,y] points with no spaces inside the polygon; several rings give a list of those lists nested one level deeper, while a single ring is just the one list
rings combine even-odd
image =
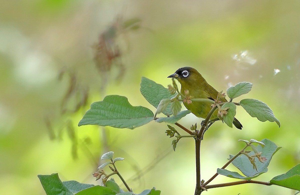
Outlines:
[{"label": "large wide green leaf extending left from the bird's branch", "polygon": [[132,106],[127,97],[110,95],[101,102],[94,102],[79,121],[81,125],[113,126],[134,129],[149,123],[154,114],[148,108]]}]

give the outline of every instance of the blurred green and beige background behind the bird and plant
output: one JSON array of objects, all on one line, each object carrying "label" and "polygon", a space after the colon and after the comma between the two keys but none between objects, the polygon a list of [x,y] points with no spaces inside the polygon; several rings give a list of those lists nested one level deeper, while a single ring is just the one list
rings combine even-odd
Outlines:
[{"label": "blurred green and beige background behind the bird and plant", "polygon": [[[110,94],[155,111],[140,94],[141,77],[167,87],[167,76],[183,66],[196,68],[219,91],[252,82],[251,92],[237,100],[259,99],[281,122],[278,128],[238,108],[243,130],[215,123],[202,142],[202,178],[244,147],[238,139],[268,138],[282,147],[257,180],[285,173],[300,163],[299,18],[296,0],[2,1],[1,194],[45,194],[37,175],[56,172],[63,181],[101,184],[91,173],[107,151],[125,158],[117,167],[136,193],[156,187],[161,194],[193,194],[192,139],[181,140],[174,152],[166,124],[77,126],[92,102]],[[189,114],[180,123],[200,121]],[[211,184],[231,181],[220,175]],[[296,193],[258,184],[204,193],[253,192]]]}]

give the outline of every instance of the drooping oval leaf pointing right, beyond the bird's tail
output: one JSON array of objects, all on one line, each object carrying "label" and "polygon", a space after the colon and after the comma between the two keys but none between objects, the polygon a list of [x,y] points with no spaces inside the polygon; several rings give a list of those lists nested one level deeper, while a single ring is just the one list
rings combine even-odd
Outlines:
[{"label": "drooping oval leaf pointing right, beyond the bird's tail", "polygon": [[242,99],[240,105],[250,114],[251,117],[256,117],[258,120],[265,122],[266,120],[276,122],[280,127],[280,122],[275,118],[273,111],[264,102],[257,99]]}]

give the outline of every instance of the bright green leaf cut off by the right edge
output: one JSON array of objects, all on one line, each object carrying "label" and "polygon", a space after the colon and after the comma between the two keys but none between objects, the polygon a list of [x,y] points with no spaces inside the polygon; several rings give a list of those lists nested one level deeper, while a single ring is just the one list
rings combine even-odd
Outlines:
[{"label": "bright green leaf cut off by the right edge", "polygon": [[274,177],[270,183],[300,191],[300,164],[288,172]]}]

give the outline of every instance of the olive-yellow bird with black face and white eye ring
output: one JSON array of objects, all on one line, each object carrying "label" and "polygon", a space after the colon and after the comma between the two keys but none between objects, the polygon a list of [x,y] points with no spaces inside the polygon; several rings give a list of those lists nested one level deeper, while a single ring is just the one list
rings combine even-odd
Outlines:
[{"label": "olive-yellow bird with black face and white eye ring", "polygon": [[[193,98],[205,98],[215,100],[217,99],[218,91],[214,89],[202,75],[192,67],[182,67],[168,78],[175,78],[181,84],[180,93],[184,94],[186,90],[189,91],[189,96]],[[228,102],[225,98],[220,99],[221,102]],[[187,102],[184,101],[183,105],[190,110],[194,115],[201,118],[206,118],[209,111],[211,111],[210,102]],[[217,110],[211,115],[211,119],[217,119]],[[233,119],[234,126],[242,129],[242,124],[236,119]]]}]

